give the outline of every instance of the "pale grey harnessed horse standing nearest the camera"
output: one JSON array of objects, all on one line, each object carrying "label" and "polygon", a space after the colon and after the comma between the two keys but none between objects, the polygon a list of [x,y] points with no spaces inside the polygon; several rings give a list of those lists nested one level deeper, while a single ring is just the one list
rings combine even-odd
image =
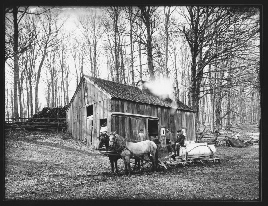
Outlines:
[{"label": "pale grey harnessed horse standing nearest the camera", "polygon": [[[150,140],[144,140],[141,142],[130,142],[122,136],[116,134],[116,132],[111,133],[109,137],[109,146],[114,147],[122,159],[124,160],[126,175],[131,175],[130,158],[135,154],[136,156],[144,156],[147,154],[152,162],[151,171],[156,171],[157,160],[155,154],[157,153],[157,146],[154,142]],[[151,156],[151,157],[150,157]]]}]

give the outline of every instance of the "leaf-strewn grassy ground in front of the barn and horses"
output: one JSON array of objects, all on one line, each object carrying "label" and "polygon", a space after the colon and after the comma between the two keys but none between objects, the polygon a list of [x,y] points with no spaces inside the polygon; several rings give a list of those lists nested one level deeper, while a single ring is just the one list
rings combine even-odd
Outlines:
[{"label": "leaf-strewn grassy ground in front of the barn and horses", "polygon": [[221,164],[154,173],[144,164],[126,176],[121,159],[113,175],[108,157],[68,134],[33,133],[6,132],[6,200],[259,200],[258,145],[216,147]]}]

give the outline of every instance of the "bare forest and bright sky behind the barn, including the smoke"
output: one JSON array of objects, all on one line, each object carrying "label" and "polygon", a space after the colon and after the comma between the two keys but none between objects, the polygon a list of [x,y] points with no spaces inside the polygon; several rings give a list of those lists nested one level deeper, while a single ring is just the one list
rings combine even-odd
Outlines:
[{"label": "bare forest and bright sky behind the barn, including the smoke", "polygon": [[260,8],[5,5],[5,117],[68,105],[83,74],[151,82],[196,130],[259,127]]}]

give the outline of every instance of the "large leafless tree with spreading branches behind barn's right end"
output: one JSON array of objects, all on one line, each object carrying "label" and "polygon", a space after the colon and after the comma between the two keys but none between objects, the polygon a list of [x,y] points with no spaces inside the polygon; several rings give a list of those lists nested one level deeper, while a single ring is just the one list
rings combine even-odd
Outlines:
[{"label": "large leafless tree with spreading branches behind barn's right end", "polygon": [[[191,51],[191,106],[196,110],[198,130],[199,93],[204,68],[215,60],[231,58],[245,50],[248,41],[258,33],[258,26],[254,20],[249,23],[256,11],[247,12],[248,8],[187,6],[186,9],[187,14],[183,15],[186,23],[178,28]],[[246,22],[250,29],[243,26]]]}]

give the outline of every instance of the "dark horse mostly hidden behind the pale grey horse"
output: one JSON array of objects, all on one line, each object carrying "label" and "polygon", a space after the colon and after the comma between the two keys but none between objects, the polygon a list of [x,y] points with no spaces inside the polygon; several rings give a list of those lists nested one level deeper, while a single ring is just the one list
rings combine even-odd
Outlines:
[{"label": "dark horse mostly hidden behind the pale grey horse", "polygon": [[[109,146],[109,136],[106,133],[102,133],[99,136],[99,150],[105,145],[106,149],[104,151],[111,150],[112,148]],[[137,142],[134,139],[129,140],[130,142]],[[111,162],[111,168],[112,168],[112,173],[114,173],[114,167],[116,168],[116,174],[118,173],[117,171],[117,160],[120,159],[121,157],[118,157],[116,155],[107,155],[109,157],[109,160]],[[144,158],[144,156],[142,157]],[[142,161],[143,162],[143,161]],[[135,158],[135,164],[133,167],[133,171],[136,169],[136,165],[138,164],[137,170],[140,170],[140,159]]]}]

